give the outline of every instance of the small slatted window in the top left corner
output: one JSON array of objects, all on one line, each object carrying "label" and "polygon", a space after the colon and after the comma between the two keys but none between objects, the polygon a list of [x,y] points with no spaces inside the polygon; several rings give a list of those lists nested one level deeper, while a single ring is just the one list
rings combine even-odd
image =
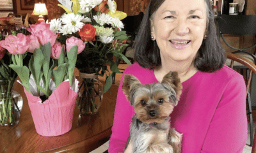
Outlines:
[{"label": "small slatted window in the top left corner", "polygon": [[7,17],[13,10],[13,0],[0,0],[0,17]]}]

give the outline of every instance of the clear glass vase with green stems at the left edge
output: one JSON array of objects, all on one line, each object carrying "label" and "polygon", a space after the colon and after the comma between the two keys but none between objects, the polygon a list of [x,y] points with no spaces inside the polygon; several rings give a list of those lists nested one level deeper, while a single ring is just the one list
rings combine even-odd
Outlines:
[{"label": "clear glass vase with green stems at the left edge", "polygon": [[0,125],[13,126],[19,123],[22,96],[12,90],[15,79],[0,80]]}]

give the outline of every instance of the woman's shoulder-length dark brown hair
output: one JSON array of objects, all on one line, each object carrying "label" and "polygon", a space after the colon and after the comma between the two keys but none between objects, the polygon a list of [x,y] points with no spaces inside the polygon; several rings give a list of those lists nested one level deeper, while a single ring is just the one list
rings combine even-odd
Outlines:
[{"label": "woman's shoulder-length dark brown hair", "polygon": [[[164,1],[150,1],[136,36],[136,43],[133,46],[135,50],[134,59],[143,68],[154,69],[161,65],[160,50],[156,41],[152,41],[150,38],[150,17],[154,15]],[[207,38],[203,40],[194,64],[199,71],[212,72],[223,67],[226,55],[217,38],[214,15],[209,0],[205,0],[205,7],[207,11]]]}]

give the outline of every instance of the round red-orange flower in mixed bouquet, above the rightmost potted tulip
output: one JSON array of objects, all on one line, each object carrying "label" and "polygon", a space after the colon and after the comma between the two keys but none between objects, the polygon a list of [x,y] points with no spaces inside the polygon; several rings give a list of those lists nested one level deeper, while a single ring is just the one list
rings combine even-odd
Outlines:
[{"label": "round red-orange flower in mixed bouquet, above the rightmost potted tulip", "polygon": [[82,29],[78,32],[79,36],[83,41],[95,41],[96,28],[91,24],[84,24]]}]

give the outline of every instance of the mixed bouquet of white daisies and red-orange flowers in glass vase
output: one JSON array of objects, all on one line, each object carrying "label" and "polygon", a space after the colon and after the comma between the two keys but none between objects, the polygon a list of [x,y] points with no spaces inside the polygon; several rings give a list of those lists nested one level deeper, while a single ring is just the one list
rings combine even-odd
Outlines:
[{"label": "mixed bouquet of white daisies and red-orange flowers in glass vase", "polygon": [[[80,74],[77,105],[81,114],[94,114],[99,110],[103,93],[112,85],[111,74],[120,73],[113,57],[131,64],[122,54],[128,39],[121,21],[126,14],[116,11],[113,0],[72,0],[72,3],[70,9],[59,4],[67,13],[51,20],[50,29],[60,34],[58,41],[63,44],[71,36],[86,43],[83,52],[77,55],[76,68]],[[106,77],[104,87],[97,76]]]}]

